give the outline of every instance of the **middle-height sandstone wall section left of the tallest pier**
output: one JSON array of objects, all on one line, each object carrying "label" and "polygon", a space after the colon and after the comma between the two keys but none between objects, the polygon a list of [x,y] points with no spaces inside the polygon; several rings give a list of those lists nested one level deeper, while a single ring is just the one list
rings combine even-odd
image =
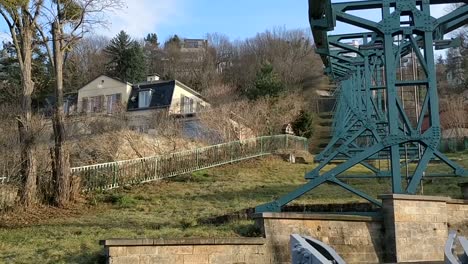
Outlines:
[{"label": "middle-height sandstone wall section left of the tallest pier", "polygon": [[290,263],[291,234],[311,236],[334,248],[347,263],[380,263],[382,219],[353,215],[263,213],[257,225],[267,238],[272,263]]}]

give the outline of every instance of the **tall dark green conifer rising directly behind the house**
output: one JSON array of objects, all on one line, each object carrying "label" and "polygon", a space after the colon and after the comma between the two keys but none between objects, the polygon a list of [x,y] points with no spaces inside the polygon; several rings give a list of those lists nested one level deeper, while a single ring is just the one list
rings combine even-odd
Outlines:
[{"label": "tall dark green conifer rising directly behind the house", "polygon": [[126,82],[143,81],[146,75],[145,55],[141,45],[120,31],[104,50],[110,57],[108,74]]}]

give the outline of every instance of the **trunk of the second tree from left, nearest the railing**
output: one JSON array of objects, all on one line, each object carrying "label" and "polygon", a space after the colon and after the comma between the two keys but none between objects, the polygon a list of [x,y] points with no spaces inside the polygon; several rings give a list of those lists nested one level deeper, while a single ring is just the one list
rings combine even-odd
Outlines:
[{"label": "trunk of the second tree from left, nearest the railing", "polygon": [[54,127],[54,175],[55,179],[55,204],[59,207],[66,206],[70,201],[70,164],[68,153],[64,148],[65,125],[63,112],[63,57],[62,28],[60,22],[55,21],[52,25],[54,70],[55,70],[55,113],[53,118]]}]

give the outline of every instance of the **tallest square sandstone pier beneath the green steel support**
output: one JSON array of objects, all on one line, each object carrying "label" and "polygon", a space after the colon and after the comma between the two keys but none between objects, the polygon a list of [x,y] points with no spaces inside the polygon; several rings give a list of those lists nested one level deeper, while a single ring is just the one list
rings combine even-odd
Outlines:
[{"label": "tallest square sandstone pier beneath the green steel support", "polygon": [[445,197],[382,195],[386,261],[443,261],[448,236]]}]

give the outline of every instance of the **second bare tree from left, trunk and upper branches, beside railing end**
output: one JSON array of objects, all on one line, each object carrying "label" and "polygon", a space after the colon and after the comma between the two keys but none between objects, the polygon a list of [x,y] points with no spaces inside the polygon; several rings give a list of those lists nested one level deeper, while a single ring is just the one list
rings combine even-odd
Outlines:
[{"label": "second bare tree from left, trunk and upper branches, beside railing end", "polygon": [[[103,23],[103,12],[119,8],[120,0],[55,0],[43,5],[42,19],[35,21],[55,77],[56,105],[53,118],[55,204],[65,206],[70,200],[69,155],[64,148],[63,69],[67,51],[93,27]],[[48,34],[47,32],[51,32]]]}]

